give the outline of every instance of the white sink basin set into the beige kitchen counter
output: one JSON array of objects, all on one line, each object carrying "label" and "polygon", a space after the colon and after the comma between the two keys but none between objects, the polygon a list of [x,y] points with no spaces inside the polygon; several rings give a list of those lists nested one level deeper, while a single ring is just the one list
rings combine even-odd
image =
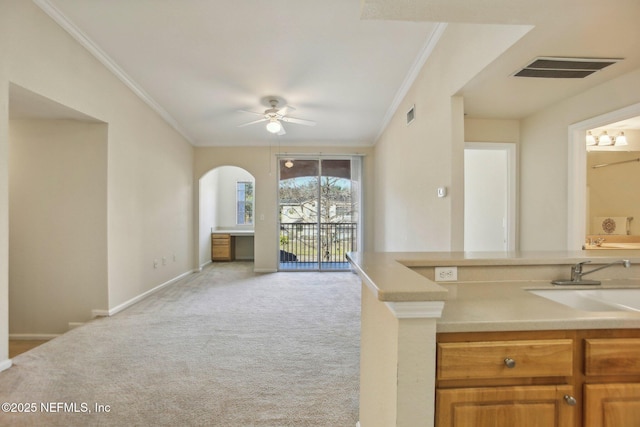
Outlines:
[{"label": "white sink basin set into the beige kitchen counter", "polygon": [[640,289],[530,289],[529,292],[583,311],[640,311]]}]

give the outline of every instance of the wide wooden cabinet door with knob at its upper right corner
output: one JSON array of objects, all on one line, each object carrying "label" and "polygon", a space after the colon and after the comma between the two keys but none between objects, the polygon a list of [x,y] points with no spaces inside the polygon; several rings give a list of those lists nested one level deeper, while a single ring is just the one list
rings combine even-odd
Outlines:
[{"label": "wide wooden cabinet door with knob at its upper right corner", "polygon": [[576,407],[571,386],[481,387],[437,390],[437,427],[567,427]]}]

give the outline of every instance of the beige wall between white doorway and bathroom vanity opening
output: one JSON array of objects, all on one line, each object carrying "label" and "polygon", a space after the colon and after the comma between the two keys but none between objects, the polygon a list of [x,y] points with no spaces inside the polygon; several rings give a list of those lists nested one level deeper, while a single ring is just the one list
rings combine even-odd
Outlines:
[{"label": "beige wall between white doorway and bathroom vanity opening", "polygon": [[640,70],[567,98],[521,122],[520,248],[567,248],[568,128],[640,102]]}]

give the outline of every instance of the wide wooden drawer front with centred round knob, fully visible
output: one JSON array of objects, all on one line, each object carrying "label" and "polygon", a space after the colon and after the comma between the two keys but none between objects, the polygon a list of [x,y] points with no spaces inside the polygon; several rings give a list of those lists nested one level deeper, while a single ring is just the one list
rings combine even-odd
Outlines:
[{"label": "wide wooden drawer front with centred round knob, fully visible", "polygon": [[573,340],[439,343],[437,378],[570,377]]}]

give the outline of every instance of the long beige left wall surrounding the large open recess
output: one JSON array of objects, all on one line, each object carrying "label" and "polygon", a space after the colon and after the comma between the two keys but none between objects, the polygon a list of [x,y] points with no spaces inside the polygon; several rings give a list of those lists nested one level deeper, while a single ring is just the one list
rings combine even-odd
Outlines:
[{"label": "long beige left wall surrounding the large open recess", "polygon": [[[8,91],[108,123],[109,307],[190,271],[193,147],[33,2],[0,2],[0,364],[8,334]],[[162,268],[157,257],[176,255]],[[0,369],[2,366],[0,365]]]}]

